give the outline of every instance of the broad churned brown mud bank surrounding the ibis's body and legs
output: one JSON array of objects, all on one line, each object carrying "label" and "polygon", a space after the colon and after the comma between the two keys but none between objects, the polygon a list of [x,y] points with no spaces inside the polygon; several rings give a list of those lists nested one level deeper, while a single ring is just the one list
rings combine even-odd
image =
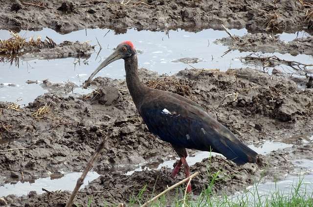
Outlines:
[{"label": "broad churned brown mud bank surrounding the ibis's body and legs", "polygon": [[[249,68],[227,72],[182,70],[174,76],[142,69],[140,74],[150,87],[167,89],[197,102],[246,144],[258,145],[265,140],[295,144],[260,155],[257,164],[236,166],[217,156],[191,166],[192,172],[201,173],[192,182],[196,195],[219,170],[214,189],[234,193],[261,177],[267,181],[283,179],[295,170],[293,161],[312,159],[312,143],[304,139],[313,132],[312,89],[299,89],[286,77]],[[74,86],[70,83],[44,86],[51,92],[22,109],[0,103],[0,183],[81,171],[109,130],[112,137],[93,168],[103,176],[82,189],[75,203],[86,204],[91,195],[94,204],[102,205],[104,200],[109,204],[128,203],[145,184],[143,200],[147,200],[152,192],[158,193],[183,178],[180,172],[172,180],[167,168],[123,174],[135,164],[162,162],[175,156],[170,145],[148,132],[125,81],[96,78],[91,83],[94,91],[88,95],[72,94]],[[26,149],[4,151],[14,148]],[[170,195],[175,196],[175,192]],[[69,192],[61,191],[41,195],[30,192],[4,199],[10,206],[64,206],[68,198]]]}]

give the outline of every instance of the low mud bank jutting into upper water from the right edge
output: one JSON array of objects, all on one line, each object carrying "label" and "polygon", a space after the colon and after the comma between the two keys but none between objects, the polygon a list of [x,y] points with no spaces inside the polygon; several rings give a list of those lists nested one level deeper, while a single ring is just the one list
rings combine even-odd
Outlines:
[{"label": "low mud bank jutting into upper water from the right edge", "polygon": [[281,54],[290,53],[293,56],[298,54],[313,55],[313,37],[296,38],[292,41],[285,42],[279,39],[279,35],[267,33],[246,34],[239,37],[239,41],[231,37],[222,38],[216,41],[223,43],[231,50],[243,52],[278,52]]}]

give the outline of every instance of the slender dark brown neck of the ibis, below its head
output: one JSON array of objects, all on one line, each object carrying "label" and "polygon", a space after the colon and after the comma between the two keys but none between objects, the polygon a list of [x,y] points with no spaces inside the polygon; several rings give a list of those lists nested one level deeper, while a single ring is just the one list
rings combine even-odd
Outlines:
[{"label": "slender dark brown neck of the ibis, below its head", "polygon": [[149,89],[139,80],[137,56],[125,60],[126,83],[137,109],[142,102],[144,94]]}]

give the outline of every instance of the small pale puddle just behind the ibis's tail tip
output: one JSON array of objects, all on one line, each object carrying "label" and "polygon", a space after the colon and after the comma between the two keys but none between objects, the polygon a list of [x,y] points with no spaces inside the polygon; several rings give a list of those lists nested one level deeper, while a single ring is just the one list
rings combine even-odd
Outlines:
[{"label": "small pale puddle just behind the ibis's tail tip", "polygon": [[285,144],[281,142],[265,141],[261,145],[254,144],[254,145],[248,145],[248,146],[254,151],[256,151],[258,154],[266,155],[277,149],[284,149],[287,147],[291,147],[293,145]]}]

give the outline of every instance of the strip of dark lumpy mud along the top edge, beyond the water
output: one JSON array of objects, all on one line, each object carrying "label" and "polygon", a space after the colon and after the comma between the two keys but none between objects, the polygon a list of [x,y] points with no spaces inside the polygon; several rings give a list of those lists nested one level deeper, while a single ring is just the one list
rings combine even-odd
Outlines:
[{"label": "strip of dark lumpy mud along the top edge, beyond the water", "polygon": [[313,28],[312,0],[0,0],[0,28],[19,31],[49,27],[59,33],[110,28],[124,33],[183,28],[247,28],[251,31],[301,31]]}]

